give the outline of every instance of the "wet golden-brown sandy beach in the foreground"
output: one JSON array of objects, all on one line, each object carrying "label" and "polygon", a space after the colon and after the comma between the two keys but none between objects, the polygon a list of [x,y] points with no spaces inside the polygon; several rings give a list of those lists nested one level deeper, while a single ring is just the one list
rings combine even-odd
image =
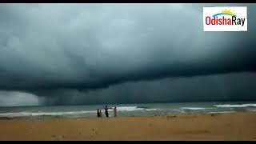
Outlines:
[{"label": "wet golden-brown sandy beach in the foreground", "polygon": [[256,140],[256,113],[2,119],[0,140]]}]

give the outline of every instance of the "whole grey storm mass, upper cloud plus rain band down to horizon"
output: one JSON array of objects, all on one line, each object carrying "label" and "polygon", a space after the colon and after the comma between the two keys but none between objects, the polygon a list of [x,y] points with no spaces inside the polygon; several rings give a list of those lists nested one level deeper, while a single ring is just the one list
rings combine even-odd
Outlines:
[{"label": "whole grey storm mass, upper cloud plus rain band down to horizon", "polygon": [[[248,31],[203,32],[203,6],[247,6]],[[2,4],[0,89],[42,105],[255,99],[254,14],[256,4]],[[215,77],[230,90],[206,85]]]}]

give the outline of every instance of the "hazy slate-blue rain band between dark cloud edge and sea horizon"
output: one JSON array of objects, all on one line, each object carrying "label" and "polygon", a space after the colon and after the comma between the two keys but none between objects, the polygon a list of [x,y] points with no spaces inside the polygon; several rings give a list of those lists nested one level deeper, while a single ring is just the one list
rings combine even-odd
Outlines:
[{"label": "hazy slate-blue rain band between dark cloud edge and sea horizon", "polygon": [[234,73],[192,78],[125,82],[99,90],[39,90],[45,105],[141,102],[255,101],[256,74]]}]

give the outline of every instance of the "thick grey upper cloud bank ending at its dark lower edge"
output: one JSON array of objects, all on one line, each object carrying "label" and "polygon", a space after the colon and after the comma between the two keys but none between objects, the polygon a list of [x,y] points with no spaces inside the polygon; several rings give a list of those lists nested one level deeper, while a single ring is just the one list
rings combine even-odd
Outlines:
[{"label": "thick grey upper cloud bank ending at its dark lower edge", "polygon": [[3,4],[0,88],[86,89],[254,70],[255,5],[241,33],[204,33],[202,6]]}]

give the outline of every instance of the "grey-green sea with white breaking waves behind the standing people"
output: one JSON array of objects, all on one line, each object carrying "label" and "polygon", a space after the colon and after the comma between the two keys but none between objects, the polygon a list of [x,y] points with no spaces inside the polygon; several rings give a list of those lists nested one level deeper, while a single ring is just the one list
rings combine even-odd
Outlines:
[{"label": "grey-green sea with white breaking waves behind the standing people", "polygon": [[[0,118],[88,118],[96,117],[97,109],[104,113],[105,105],[87,106],[19,106],[0,107]],[[178,114],[213,114],[255,111],[256,102],[174,102],[148,104],[109,104],[117,106],[119,116],[154,116]],[[110,117],[113,110],[109,110]]]}]

